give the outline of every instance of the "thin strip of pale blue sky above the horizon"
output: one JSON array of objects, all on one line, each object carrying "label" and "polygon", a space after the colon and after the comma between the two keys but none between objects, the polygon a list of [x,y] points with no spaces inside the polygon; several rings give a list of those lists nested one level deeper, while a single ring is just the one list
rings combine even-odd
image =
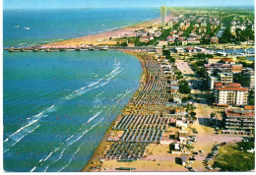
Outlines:
[{"label": "thin strip of pale blue sky above the horizon", "polygon": [[254,0],[4,0],[4,9],[253,6]]}]

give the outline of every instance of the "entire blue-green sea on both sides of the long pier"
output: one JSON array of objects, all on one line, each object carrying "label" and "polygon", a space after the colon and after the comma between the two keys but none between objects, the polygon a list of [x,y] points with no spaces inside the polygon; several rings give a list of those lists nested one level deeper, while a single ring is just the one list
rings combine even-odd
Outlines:
[{"label": "entire blue-green sea on both sides of the long pier", "polygon": [[[23,47],[159,18],[159,9],[4,10],[4,47]],[[139,87],[121,51],[3,53],[3,158],[8,172],[77,172]]]}]

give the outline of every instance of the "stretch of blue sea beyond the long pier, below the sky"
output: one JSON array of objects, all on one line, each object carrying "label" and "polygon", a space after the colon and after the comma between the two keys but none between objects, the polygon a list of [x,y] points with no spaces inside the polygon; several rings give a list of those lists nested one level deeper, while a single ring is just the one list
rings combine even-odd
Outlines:
[{"label": "stretch of blue sea beyond the long pier, below the sky", "polygon": [[158,8],[4,10],[4,47],[49,43],[159,17]]}]

